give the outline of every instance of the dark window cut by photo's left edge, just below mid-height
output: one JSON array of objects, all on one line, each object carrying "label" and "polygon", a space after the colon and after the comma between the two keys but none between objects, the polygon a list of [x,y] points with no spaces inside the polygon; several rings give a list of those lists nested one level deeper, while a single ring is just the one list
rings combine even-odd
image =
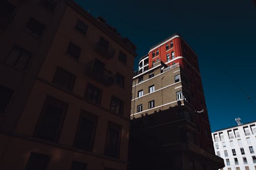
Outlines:
[{"label": "dark window cut by photo's left edge, just below mid-height", "polygon": [[0,85],[0,114],[5,112],[5,109],[12,98],[12,94],[13,90]]}]

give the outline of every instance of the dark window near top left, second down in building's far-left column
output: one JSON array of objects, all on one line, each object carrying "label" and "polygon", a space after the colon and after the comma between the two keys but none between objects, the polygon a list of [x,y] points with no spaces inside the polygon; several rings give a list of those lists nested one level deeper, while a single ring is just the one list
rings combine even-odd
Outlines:
[{"label": "dark window near top left, second down in building's far-left column", "polygon": [[26,27],[25,31],[32,34],[36,37],[41,37],[42,33],[44,33],[46,26],[36,20],[35,18],[30,18]]}]

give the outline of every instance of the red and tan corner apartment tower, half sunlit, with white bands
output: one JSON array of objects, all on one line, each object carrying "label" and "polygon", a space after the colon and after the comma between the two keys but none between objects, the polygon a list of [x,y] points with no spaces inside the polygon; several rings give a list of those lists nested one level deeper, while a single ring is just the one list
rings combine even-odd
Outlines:
[{"label": "red and tan corner apartment tower, half sunlit, with white bands", "polygon": [[180,35],[139,60],[132,88],[130,169],[224,166],[212,145],[197,56]]}]

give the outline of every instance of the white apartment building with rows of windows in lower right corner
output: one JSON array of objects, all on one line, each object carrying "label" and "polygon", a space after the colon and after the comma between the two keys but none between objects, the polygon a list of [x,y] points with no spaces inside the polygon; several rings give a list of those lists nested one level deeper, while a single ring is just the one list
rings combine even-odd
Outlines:
[{"label": "white apartment building with rows of windows in lower right corner", "polygon": [[211,133],[216,155],[224,159],[221,170],[256,169],[256,122]]}]

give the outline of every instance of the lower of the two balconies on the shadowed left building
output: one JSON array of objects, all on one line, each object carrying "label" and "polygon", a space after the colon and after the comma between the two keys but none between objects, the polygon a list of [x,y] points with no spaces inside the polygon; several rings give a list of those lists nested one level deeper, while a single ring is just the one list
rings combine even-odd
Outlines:
[{"label": "lower of the two balconies on the shadowed left building", "polygon": [[115,80],[115,75],[112,74],[110,70],[97,66],[95,61],[91,61],[87,64],[86,75],[105,86],[113,85]]}]

